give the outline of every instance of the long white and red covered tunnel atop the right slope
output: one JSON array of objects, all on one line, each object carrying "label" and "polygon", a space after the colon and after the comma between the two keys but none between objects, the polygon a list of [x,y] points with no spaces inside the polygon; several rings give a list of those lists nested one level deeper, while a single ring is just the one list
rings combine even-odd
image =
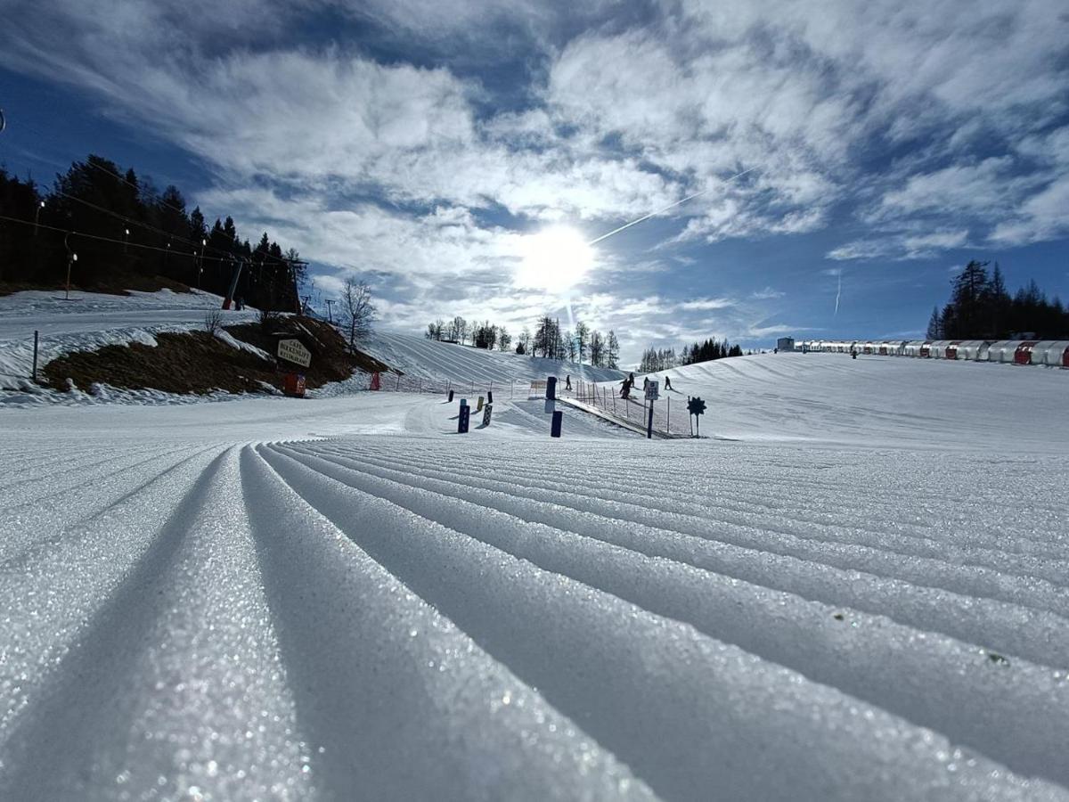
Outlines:
[{"label": "long white and red covered tunnel atop the right slope", "polygon": [[1069,368],[1069,340],[803,340],[794,350]]}]

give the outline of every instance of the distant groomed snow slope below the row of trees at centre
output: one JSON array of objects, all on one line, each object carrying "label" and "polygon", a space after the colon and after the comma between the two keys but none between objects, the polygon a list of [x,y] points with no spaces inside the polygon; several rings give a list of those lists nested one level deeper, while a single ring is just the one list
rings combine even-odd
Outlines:
[{"label": "distant groomed snow slope below the row of trees at centre", "polygon": [[375,333],[360,342],[360,349],[390,367],[420,379],[450,380],[454,384],[468,382],[530,382],[546,376],[566,375],[591,382],[619,381],[624,373],[609,368],[559,363],[541,357],[520,356],[500,351],[435,342],[412,335]]}]

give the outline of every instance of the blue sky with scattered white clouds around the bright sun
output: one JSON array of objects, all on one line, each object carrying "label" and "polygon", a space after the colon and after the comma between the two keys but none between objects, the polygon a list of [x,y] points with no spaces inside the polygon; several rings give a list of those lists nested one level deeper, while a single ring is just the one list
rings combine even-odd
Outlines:
[{"label": "blue sky with scattered white clouds around the bright sun", "polygon": [[[570,307],[626,359],[910,337],[970,259],[1069,299],[1064,0],[0,12],[9,169],[49,183],[96,152],[174,182],[296,247],[322,295],[369,279],[389,328]],[[567,293],[516,283],[532,233],[593,240],[696,191]]]}]

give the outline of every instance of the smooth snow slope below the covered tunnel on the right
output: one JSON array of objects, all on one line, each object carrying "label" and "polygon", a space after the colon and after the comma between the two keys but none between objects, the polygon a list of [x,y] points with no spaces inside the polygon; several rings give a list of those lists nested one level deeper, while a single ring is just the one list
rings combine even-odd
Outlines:
[{"label": "smooth snow slope below the covered tunnel on the right", "polygon": [[[665,373],[672,391],[664,392]],[[1069,450],[1069,370],[849,354],[759,354],[650,374],[654,405],[686,431],[687,396],[708,410],[701,433],[747,441],[885,447]],[[639,389],[641,388],[639,376]],[[619,385],[616,386],[619,389]],[[633,404],[640,410],[641,392]],[[621,402],[617,400],[619,406]],[[633,419],[640,413],[632,412]]]}]

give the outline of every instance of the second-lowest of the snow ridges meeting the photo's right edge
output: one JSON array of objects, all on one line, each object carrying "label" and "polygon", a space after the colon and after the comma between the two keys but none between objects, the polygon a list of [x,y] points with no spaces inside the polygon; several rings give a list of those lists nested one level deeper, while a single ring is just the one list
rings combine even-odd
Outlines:
[{"label": "second-lowest of the snow ridges meeting the photo's right edge", "polygon": [[[360,456],[360,463],[353,463],[353,467],[374,469],[369,468],[366,458],[362,453]],[[405,474],[393,472],[393,475],[403,477]],[[448,482],[425,476],[419,483],[428,489],[444,487],[446,492],[450,488]],[[531,498],[529,493],[516,495],[514,489],[508,485],[498,491],[480,491],[475,484],[472,477],[464,478],[464,497],[478,498],[483,506],[512,512],[528,521],[594,537],[649,556],[687,562],[830,605],[889,615],[920,630],[941,632],[1052,668],[1069,666],[1069,622],[1051,613],[915,585],[897,577],[846,571],[821,562],[630,521],[623,521],[626,525],[621,526],[618,518],[574,506],[545,504]]]}]

